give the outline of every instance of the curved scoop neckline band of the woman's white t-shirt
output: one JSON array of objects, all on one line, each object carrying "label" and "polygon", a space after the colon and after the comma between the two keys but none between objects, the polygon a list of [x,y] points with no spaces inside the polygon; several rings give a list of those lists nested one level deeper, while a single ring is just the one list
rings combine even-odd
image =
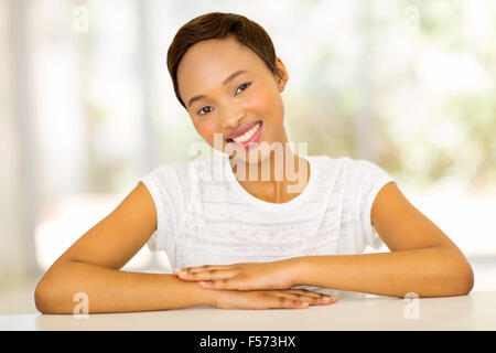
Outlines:
[{"label": "curved scoop neckline band of the woman's white t-shirt", "polygon": [[300,157],[309,161],[309,164],[310,164],[309,182],[306,183],[305,189],[303,189],[303,191],[296,197],[291,199],[290,201],[283,202],[283,203],[272,203],[272,202],[263,201],[263,200],[260,200],[260,199],[254,196],[248,191],[246,191],[241,186],[239,181],[237,180],[233,170],[230,169],[228,154],[225,154],[225,157],[224,157],[224,163],[223,163],[224,164],[224,175],[227,178],[229,183],[233,185],[233,189],[236,192],[238,197],[241,197],[242,200],[249,202],[250,204],[252,204],[257,207],[268,210],[268,211],[293,208],[293,207],[302,204],[305,200],[308,200],[310,197],[313,190],[315,189],[316,179],[317,179],[317,174],[319,174],[315,156],[300,156]]}]

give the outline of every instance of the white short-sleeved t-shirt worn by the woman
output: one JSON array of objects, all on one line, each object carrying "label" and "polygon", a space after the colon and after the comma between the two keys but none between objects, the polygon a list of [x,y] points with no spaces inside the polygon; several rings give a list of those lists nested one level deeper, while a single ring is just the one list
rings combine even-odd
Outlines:
[{"label": "white short-sleeved t-shirt worn by the woman", "polygon": [[[172,268],[378,249],[384,243],[371,225],[371,205],[379,190],[396,181],[366,160],[300,157],[310,163],[310,179],[303,192],[285,203],[248,193],[227,154],[155,168],[139,179],[157,208],[158,228],[149,248],[165,252]],[[313,286],[294,288],[365,297]]]}]

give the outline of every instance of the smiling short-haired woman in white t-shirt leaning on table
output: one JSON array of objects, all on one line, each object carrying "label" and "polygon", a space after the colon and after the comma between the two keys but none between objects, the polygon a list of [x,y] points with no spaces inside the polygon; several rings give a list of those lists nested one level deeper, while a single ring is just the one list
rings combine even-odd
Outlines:
[{"label": "smiling short-haired woman in white t-shirt leaning on table", "polygon": [[[281,93],[289,74],[261,26],[233,13],[201,15],[179,30],[168,66],[194,128],[223,157],[166,163],[141,178],[46,272],[35,293],[42,312],[71,312],[74,291],[89,295],[89,312],[301,309],[335,303],[324,295],[346,291],[471,291],[463,254],[386,171],[287,148]],[[240,165],[249,180],[234,173]],[[363,254],[384,243],[391,253]],[[144,244],[183,270],[119,271]]]}]

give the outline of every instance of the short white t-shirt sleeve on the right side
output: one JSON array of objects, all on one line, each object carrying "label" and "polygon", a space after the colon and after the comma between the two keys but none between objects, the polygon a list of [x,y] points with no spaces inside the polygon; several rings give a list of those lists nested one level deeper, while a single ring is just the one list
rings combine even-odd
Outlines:
[{"label": "short white t-shirt sleeve on the right side", "polygon": [[352,160],[351,183],[354,189],[354,207],[360,223],[359,247],[379,249],[384,242],[371,224],[371,206],[379,191],[396,180],[377,164],[367,160]]}]

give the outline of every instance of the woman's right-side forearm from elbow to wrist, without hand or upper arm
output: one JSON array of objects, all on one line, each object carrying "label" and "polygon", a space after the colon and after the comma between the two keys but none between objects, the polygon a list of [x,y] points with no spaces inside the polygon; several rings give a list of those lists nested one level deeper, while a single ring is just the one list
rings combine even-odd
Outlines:
[{"label": "woman's right-side forearm from elbow to wrist, without hand or upper arm", "polygon": [[294,286],[310,285],[403,298],[465,296],[473,275],[449,248],[382,254],[305,256],[291,259]]}]

